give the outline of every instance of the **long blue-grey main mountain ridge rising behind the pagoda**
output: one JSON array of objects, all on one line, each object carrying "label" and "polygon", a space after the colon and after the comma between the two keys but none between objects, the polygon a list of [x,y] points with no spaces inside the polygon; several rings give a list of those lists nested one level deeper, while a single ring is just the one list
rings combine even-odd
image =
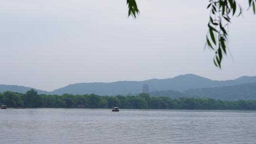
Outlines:
[{"label": "long blue-grey main mountain ridge rising behind the pagoda", "polygon": [[194,75],[185,74],[169,79],[150,79],[146,81],[117,81],[117,82],[94,82],[70,84],[50,92],[51,94],[90,94],[98,95],[118,95],[128,93],[140,93],[144,83],[149,85],[150,91],[155,90],[175,90],[185,91],[189,89],[200,89],[209,87],[223,87],[237,84],[256,82],[256,76],[243,76],[235,80],[212,81],[210,79]]}]

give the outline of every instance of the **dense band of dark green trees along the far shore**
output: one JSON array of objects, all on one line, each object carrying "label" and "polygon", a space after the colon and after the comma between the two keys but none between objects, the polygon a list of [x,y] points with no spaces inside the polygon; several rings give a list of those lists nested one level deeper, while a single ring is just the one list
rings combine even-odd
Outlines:
[{"label": "dense band of dark green trees along the far shore", "polygon": [[7,107],[27,108],[135,108],[135,109],[209,109],[209,110],[256,110],[256,100],[217,100],[168,97],[137,96],[45,95],[36,90],[25,94],[5,91],[0,93],[0,104]]}]

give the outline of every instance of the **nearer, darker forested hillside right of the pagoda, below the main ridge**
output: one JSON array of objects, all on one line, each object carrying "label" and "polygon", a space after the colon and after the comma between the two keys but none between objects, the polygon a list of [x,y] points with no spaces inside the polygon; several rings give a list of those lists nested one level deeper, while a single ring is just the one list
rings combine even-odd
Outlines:
[{"label": "nearer, darker forested hillside right of the pagoda, below the main ridge", "polygon": [[151,91],[150,96],[164,96],[172,99],[206,98],[222,100],[255,99],[256,82],[216,88],[190,89],[184,92],[174,90]]}]

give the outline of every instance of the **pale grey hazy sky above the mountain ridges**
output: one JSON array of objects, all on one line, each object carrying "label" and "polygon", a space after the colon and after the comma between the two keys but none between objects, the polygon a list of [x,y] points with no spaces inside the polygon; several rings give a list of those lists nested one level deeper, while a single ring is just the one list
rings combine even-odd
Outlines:
[{"label": "pale grey hazy sky above the mountain ridges", "polygon": [[256,16],[238,0],[222,69],[203,52],[208,0],[0,0],[0,84],[54,90],[78,82],[256,75]]}]

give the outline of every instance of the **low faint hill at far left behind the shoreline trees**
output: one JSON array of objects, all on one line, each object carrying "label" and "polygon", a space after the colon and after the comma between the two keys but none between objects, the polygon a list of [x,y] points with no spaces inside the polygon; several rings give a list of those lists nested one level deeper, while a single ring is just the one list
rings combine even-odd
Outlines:
[{"label": "low faint hill at far left behind the shoreline trees", "polygon": [[[20,92],[20,93],[26,93],[27,90],[31,90],[34,88],[30,88],[30,87],[24,87],[24,86],[17,86],[17,85],[5,85],[5,84],[0,84],[0,92],[4,92],[4,91],[14,91],[14,92]],[[37,89],[35,89],[37,90]],[[44,91],[44,90],[37,90],[38,94],[49,94],[48,91]]]}]

